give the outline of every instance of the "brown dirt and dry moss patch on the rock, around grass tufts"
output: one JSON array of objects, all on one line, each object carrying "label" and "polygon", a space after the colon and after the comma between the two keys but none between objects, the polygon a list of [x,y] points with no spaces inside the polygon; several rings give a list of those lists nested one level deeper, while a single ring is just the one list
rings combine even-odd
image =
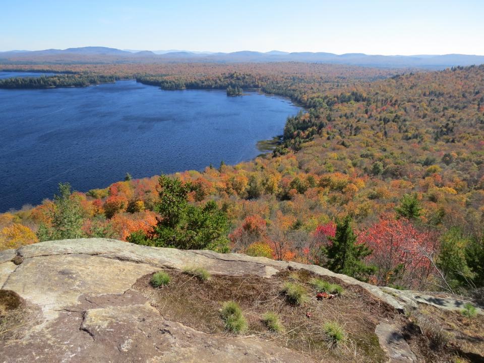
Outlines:
[{"label": "brown dirt and dry moss patch on the rock, around grass tufts", "polygon": [[[243,310],[249,323],[249,330],[244,336],[271,341],[315,360],[386,360],[375,335],[375,327],[382,320],[395,319],[397,313],[359,286],[326,279],[339,283],[344,292],[330,299],[318,300],[317,291],[309,284],[316,275],[307,270],[286,270],[270,279],[254,275],[214,275],[205,282],[180,271],[169,271],[169,274],[171,281],[166,286],[151,287],[151,275],[144,276],[133,286],[134,290],[150,299],[164,319],[209,334],[231,335],[224,329],[220,308],[223,302],[233,300]],[[304,286],[309,300],[300,306],[290,304],[281,294],[281,286],[287,281]],[[262,322],[266,312],[279,316],[283,332],[274,333],[267,329]],[[336,346],[330,344],[324,331],[327,322],[341,325],[347,332],[347,339]]]}]

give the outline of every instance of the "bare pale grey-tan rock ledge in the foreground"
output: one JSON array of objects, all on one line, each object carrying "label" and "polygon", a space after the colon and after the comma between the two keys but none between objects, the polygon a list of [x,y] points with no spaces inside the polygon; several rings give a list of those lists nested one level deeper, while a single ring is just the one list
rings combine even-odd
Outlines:
[{"label": "bare pale grey-tan rock ledge in the foreground", "polygon": [[[431,294],[379,288],[314,265],[105,238],[48,241],[0,251],[0,287],[18,293],[30,314],[28,323],[19,327],[20,337],[0,340],[0,362],[310,361],[271,342],[212,336],[165,320],[146,297],[131,290],[140,277],[160,268],[191,265],[212,274],[266,278],[287,268],[307,269],[359,285],[399,312],[417,304],[446,310],[464,304],[455,297],[436,300]],[[377,327],[382,347],[389,357],[411,361],[411,351],[392,329]]]}]

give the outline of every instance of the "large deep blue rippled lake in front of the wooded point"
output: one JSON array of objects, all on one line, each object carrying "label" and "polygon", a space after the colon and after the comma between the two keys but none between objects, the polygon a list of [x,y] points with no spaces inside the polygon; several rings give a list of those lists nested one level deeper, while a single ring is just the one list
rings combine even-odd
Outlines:
[{"label": "large deep blue rippled lake in front of the wooded point", "polygon": [[0,212],[122,180],[202,170],[260,154],[299,107],[219,90],[163,91],[134,80],[84,88],[0,89]]}]

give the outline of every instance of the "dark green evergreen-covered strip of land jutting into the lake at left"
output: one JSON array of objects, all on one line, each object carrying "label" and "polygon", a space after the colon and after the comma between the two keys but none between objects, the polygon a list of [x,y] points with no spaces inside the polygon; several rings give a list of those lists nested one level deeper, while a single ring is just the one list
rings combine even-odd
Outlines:
[{"label": "dark green evergreen-covered strip of land jutting into the lake at left", "polygon": [[0,80],[0,88],[33,89],[54,87],[86,87],[93,84],[109,83],[116,80],[115,76],[101,75],[56,75],[40,77],[13,77]]}]

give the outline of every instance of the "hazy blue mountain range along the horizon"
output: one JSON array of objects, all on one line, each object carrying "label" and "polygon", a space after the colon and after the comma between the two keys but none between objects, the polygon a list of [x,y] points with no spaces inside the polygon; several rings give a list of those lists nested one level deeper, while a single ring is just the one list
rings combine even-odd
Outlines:
[{"label": "hazy blue mountain range along the horizon", "polygon": [[45,50],[12,50],[0,52],[0,64],[76,64],[76,63],[163,63],[163,62],[306,62],[382,68],[442,69],[452,66],[484,64],[484,55],[369,55],[364,53],[334,54],[325,52],[236,51],[195,52],[186,50],[120,50],[107,47],[81,47]]}]

